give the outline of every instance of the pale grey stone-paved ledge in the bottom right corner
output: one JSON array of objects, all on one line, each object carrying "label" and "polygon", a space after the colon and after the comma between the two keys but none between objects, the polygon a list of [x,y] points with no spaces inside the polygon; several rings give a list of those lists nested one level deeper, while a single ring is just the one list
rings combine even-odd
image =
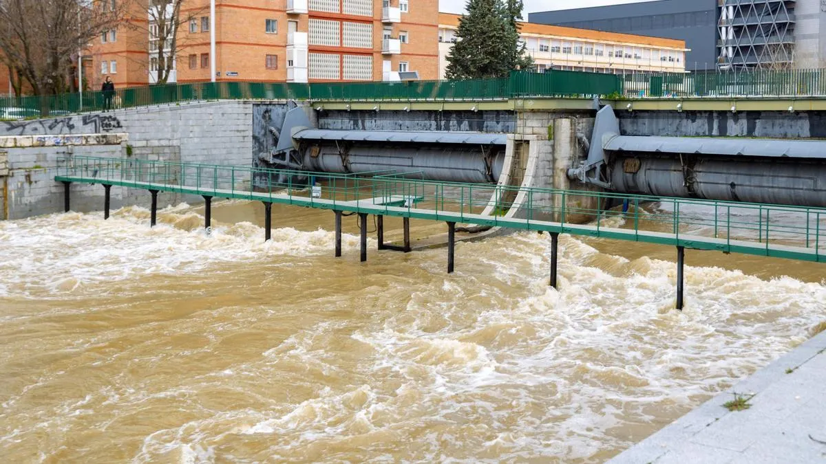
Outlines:
[{"label": "pale grey stone-paved ledge in the bottom right corner", "polygon": [[[824,352],[826,332],[821,332],[630,447],[610,463],[755,462],[755,451],[761,446],[767,449],[757,455],[760,456],[757,462],[781,462],[775,458],[783,456],[786,462],[807,462],[811,457],[819,457],[817,462],[826,462],[826,445],[806,439],[810,433],[805,431],[811,428],[796,424],[806,420],[807,411],[826,414],[826,399],[821,397],[826,394],[826,384],[819,384],[826,376],[823,368],[826,354],[818,356]],[[787,372],[789,369],[794,372]],[[786,395],[778,395],[778,391]],[[734,392],[754,394],[749,401],[752,408],[729,412],[723,404],[733,399]],[[826,419],[821,424],[826,424]],[[826,433],[826,426],[820,429]],[[795,434],[800,436],[794,442],[777,441],[781,435],[782,440],[790,440]],[[822,435],[819,438],[826,439]],[[802,451],[808,456],[798,455],[800,447],[807,448]]]}]

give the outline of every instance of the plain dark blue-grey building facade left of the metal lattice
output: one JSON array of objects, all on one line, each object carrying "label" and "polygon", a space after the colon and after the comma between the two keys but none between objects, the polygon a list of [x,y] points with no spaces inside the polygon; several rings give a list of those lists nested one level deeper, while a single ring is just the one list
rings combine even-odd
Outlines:
[{"label": "plain dark blue-grey building facade left of the metal lattice", "polygon": [[529,22],[686,40],[686,70],[717,67],[718,0],[661,0],[535,12]]}]

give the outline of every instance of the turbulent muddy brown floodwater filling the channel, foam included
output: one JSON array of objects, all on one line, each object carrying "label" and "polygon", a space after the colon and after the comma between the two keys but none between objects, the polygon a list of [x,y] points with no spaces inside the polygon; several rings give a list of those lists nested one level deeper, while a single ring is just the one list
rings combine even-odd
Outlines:
[{"label": "turbulent muddy brown floodwater filling the channel, foam included", "polygon": [[0,222],[2,461],[601,462],[826,322],[823,265],[689,250],[679,313],[667,247],[563,235],[556,291],[547,235],[448,276],[261,209]]}]

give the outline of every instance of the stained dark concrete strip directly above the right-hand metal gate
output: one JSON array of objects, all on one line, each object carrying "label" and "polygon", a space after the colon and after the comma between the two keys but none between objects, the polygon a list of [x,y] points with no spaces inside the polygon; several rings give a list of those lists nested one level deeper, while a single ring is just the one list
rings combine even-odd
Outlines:
[{"label": "stained dark concrete strip directly above the right-hand metal gate", "polygon": [[826,138],[820,111],[617,111],[623,135]]}]

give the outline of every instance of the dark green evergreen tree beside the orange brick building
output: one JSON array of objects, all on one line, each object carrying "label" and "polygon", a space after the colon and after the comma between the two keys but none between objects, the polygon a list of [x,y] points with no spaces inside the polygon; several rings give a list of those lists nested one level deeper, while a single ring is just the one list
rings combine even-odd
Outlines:
[{"label": "dark green evergreen tree beside the orange brick building", "polygon": [[468,14],[459,21],[458,40],[448,55],[447,78],[500,78],[529,67],[516,22],[521,0],[468,0],[465,8]]}]

